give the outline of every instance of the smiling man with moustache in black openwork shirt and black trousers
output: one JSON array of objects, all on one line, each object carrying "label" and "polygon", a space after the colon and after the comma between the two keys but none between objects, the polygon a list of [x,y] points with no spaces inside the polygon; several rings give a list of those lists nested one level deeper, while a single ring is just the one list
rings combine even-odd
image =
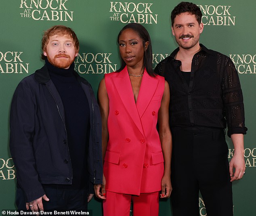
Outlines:
[{"label": "smiling man with moustache in black openwork shirt and black trousers", "polygon": [[[243,95],[231,59],[199,44],[201,17],[189,2],[172,10],[179,47],[155,68],[170,86],[172,210],[198,216],[200,190],[208,216],[232,216],[232,182],[245,174]],[[230,164],[226,126],[235,148]]]}]

